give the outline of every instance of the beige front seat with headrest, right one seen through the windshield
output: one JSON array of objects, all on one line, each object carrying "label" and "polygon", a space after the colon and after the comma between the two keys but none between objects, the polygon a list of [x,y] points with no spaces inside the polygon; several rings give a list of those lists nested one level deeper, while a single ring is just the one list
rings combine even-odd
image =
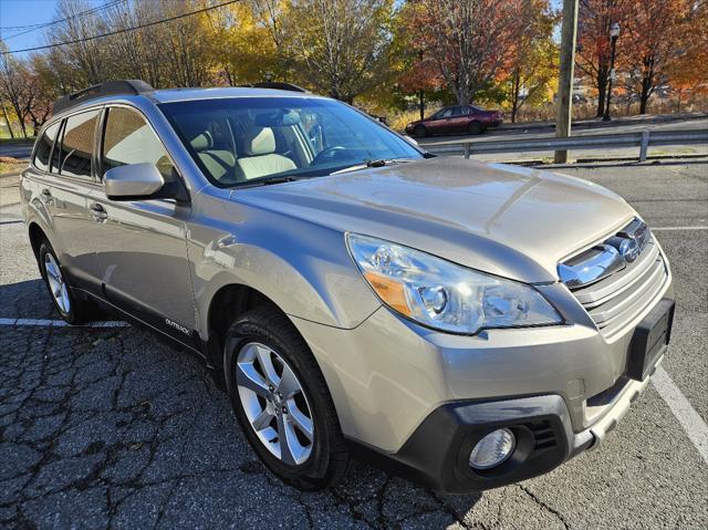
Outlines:
[{"label": "beige front seat with headrest, right one seen through the windshield", "polygon": [[275,135],[270,127],[246,133],[237,165],[246,179],[296,169],[294,162],[275,153]]}]

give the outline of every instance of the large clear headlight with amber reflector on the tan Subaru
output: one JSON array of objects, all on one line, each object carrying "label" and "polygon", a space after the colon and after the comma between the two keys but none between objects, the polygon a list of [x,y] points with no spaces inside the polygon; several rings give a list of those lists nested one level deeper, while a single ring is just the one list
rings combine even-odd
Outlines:
[{"label": "large clear headlight with amber reflector on the tan Subaru", "polygon": [[348,233],[346,241],[378,298],[424,325],[473,334],[486,328],[563,322],[558,311],[530,285],[381,239]]}]

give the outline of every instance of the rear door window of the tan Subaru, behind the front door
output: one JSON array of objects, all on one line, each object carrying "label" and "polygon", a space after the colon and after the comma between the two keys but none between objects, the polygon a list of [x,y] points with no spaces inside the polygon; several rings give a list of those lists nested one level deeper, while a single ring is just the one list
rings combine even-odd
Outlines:
[{"label": "rear door window of the tan Subaru, behind the front door", "polygon": [[91,177],[96,123],[100,111],[87,111],[66,118],[59,159],[60,175]]}]

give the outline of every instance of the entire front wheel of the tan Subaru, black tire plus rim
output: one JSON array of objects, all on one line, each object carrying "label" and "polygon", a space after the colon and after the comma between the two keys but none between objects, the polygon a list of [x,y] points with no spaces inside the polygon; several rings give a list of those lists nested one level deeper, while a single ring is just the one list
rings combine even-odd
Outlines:
[{"label": "entire front wheel of the tan Subaru, black tire plus rim", "polygon": [[241,315],[223,352],[227,391],[246,438],[266,466],[299,489],[335,484],[348,450],[308,344],[272,306]]}]

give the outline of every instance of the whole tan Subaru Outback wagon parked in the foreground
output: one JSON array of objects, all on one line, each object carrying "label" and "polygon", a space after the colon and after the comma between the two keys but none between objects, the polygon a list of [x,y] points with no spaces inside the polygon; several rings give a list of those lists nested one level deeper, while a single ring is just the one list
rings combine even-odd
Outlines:
[{"label": "whole tan Subaru Outback wagon parked in the foreground", "polygon": [[636,211],[280,89],[115,81],[56,103],[21,195],[62,318],[107,305],[194,352],[303,489],[358,456],[481,490],[597,447],[671,330]]}]

